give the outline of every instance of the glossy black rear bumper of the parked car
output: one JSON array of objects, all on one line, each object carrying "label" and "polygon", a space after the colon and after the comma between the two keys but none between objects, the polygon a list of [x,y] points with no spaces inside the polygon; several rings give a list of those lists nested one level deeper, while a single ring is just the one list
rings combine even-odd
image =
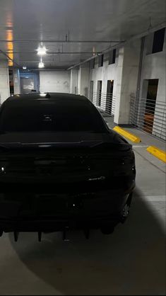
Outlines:
[{"label": "glossy black rear bumper of the parked car", "polygon": [[0,195],[0,230],[54,232],[69,228],[115,226],[130,188],[80,195]]}]

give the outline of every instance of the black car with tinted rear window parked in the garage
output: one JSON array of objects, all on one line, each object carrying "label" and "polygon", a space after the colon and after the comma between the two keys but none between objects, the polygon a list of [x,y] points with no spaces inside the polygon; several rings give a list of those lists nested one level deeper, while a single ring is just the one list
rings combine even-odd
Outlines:
[{"label": "black car with tinted rear window parked in the garage", "polygon": [[0,111],[0,234],[90,228],[111,233],[129,215],[131,144],[88,98],[31,93]]}]

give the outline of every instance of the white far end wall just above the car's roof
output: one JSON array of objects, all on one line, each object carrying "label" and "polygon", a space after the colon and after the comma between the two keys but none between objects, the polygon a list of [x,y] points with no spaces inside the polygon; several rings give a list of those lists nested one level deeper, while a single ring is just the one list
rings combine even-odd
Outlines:
[{"label": "white far end wall just above the car's roof", "polygon": [[70,93],[69,71],[40,71],[40,92]]}]

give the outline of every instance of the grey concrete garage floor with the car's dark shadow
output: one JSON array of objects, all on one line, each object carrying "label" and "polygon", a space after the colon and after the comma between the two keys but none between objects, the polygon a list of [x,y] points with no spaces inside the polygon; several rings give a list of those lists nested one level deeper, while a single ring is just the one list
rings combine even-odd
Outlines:
[{"label": "grey concrete garage floor with the car's dark shadow", "polygon": [[[134,130],[136,189],[131,215],[114,233],[20,233],[0,239],[0,295],[165,295],[165,164],[146,152],[164,142]],[[158,146],[159,147],[159,146]]]}]

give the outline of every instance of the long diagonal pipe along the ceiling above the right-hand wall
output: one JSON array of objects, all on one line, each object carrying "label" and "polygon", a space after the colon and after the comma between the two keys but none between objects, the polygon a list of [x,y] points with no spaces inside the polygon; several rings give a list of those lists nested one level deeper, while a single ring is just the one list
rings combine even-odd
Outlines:
[{"label": "long diagonal pipe along the ceiling above the right-hand wall", "polygon": [[119,48],[121,46],[124,46],[124,45],[126,45],[127,43],[129,43],[129,42],[131,42],[133,40],[136,40],[138,38],[142,38],[142,37],[144,37],[144,36],[146,36],[146,35],[148,35],[150,33],[155,32],[156,30],[160,30],[160,29],[165,28],[165,27],[166,27],[166,22],[162,22],[162,23],[160,23],[158,25],[155,25],[155,27],[150,27],[147,30],[143,31],[142,33],[139,33],[137,35],[132,36],[128,40],[124,40],[122,42],[119,42],[117,45],[112,45],[107,50],[102,50],[102,52],[100,52],[100,54],[93,55],[92,57],[89,57],[88,59],[85,59],[83,62],[75,64],[72,67],[69,67],[67,70],[71,70],[71,69],[73,69],[75,67],[80,66],[81,64],[85,64],[86,62],[90,62],[91,59],[95,59],[95,57],[98,57],[99,55],[103,55],[103,54],[105,54],[107,52],[110,52],[111,50],[114,50],[114,49],[117,49],[117,48]]}]

